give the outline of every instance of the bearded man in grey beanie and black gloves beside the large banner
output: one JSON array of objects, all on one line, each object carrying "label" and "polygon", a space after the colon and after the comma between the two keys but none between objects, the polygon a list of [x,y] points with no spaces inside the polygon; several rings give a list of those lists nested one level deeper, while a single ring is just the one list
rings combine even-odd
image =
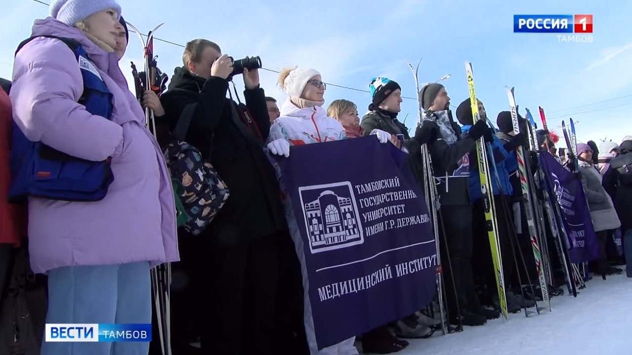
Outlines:
[{"label": "bearded man in grey beanie and black gloves beside the large banner", "polygon": [[447,250],[445,243],[441,243],[440,248],[446,272],[450,322],[458,324],[460,317],[464,325],[483,325],[500,314],[481,306],[474,287],[468,153],[475,148],[479,138],[491,136],[492,131],[480,121],[471,128],[467,138],[461,138],[461,128],[449,111],[450,97],[446,88],[439,83],[428,84],[419,95],[425,111],[422,127],[433,125],[439,128],[438,139],[428,148],[441,203],[439,235],[447,241]]}]

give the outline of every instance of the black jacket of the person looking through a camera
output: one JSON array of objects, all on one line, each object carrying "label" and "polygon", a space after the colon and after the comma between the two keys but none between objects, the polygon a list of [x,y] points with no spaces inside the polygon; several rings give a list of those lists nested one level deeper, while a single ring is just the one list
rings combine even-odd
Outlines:
[{"label": "black jacket of the person looking through a camera", "polygon": [[226,90],[228,81],[222,78],[204,80],[185,68],[176,68],[161,103],[172,131],[186,105],[195,105],[185,141],[200,150],[202,158],[210,161],[228,186],[228,201],[209,231],[228,228],[245,236],[268,236],[288,225],[276,172],[263,150],[270,133],[265,93],[262,88],[244,92],[261,141],[247,131],[245,123],[233,118],[231,105],[235,103],[226,98]]}]

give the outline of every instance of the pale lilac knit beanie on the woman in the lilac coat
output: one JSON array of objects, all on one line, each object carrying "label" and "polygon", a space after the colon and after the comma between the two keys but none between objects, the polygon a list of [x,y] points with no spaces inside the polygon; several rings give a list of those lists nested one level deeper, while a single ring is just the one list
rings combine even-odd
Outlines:
[{"label": "pale lilac knit beanie on the woman in the lilac coat", "polygon": [[114,0],[52,0],[50,9],[52,17],[70,26],[105,9],[121,16],[121,6]]}]

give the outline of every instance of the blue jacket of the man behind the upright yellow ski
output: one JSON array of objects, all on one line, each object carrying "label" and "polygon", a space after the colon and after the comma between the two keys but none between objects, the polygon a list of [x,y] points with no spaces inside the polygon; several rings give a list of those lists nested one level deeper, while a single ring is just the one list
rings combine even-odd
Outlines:
[{"label": "blue jacket of the man behind the upright yellow ski", "polygon": [[[470,128],[471,125],[463,126],[463,128],[461,128],[464,138],[469,135]],[[513,188],[511,187],[511,182],[509,181],[509,169],[513,168],[513,166],[510,166],[509,168],[507,167],[507,159],[511,159],[511,157],[513,156],[513,160],[516,160],[515,154],[507,152],[507,150],[502,145],[502,141],[497,136],[494,136],[494,141],[492,141],[491,145],[496,171],[498,172],[498,179],[496,179],[494,174],[494,165],[489,165],[492,178],[492,191],[494,191],[494,195],[501,195],[501,189],[498,188],[498,181],[500,181],[502,195],[511,196],[513,194]],[[509,162],[509,164],[512,163]],[[515,167],[517,169],[518,162],[515,161],[515,164]],[[472,203],[477,202],[483,197],[483,194],[480,191],[478,157],[475,150],[470,152],[470,196]]]}]

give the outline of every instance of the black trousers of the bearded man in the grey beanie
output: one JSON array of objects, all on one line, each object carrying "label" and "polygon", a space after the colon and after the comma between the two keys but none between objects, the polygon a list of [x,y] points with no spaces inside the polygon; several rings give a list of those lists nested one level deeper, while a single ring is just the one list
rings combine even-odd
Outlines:
[{"label": "black trousers of the bearded man in the grey beanie", "polygon": [[446,285],[447,308],[452,317],[458,314],[457,302],[461,310],[475,311],[480,308],[472,272],[471,226],[470,205],[442,206],[439,220],[439,250]]}]

